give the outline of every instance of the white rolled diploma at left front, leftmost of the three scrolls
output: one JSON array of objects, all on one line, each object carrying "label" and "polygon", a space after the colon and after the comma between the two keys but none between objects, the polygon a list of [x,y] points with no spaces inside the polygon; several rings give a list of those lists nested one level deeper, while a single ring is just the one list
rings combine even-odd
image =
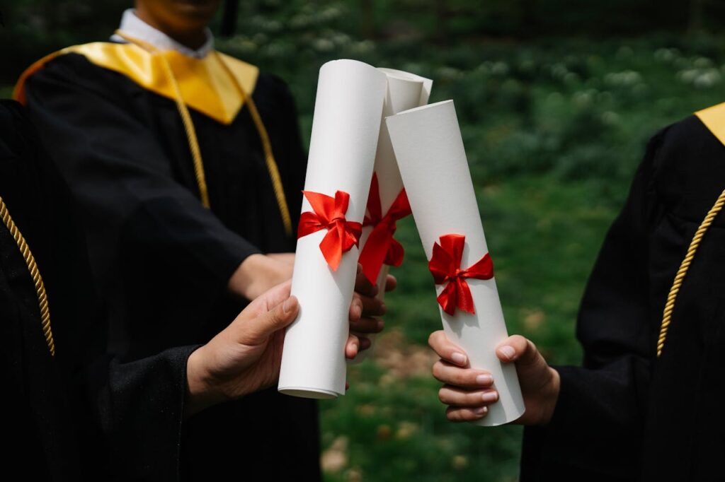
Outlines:
[{"label": "white rolled diploma at left front, leftmost of the three scrolls", "polygon": [[[365,216],[385,89],[385,74],[362,62],[336,60],[320,68],[305,190],[349,193],[348,221]],[[302,212],[311,210],[305,198]],[[334,398],[345,392],[344,347],[359,250],[343,253],[332,271],[320,252],[326,233],[297,240],[292,295],[299,315],[284,339],[278,384],[283,394]]]}]

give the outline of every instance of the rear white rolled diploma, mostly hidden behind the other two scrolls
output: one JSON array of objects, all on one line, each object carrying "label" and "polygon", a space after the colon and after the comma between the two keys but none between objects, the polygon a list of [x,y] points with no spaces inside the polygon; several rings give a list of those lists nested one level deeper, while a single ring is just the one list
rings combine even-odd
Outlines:
[{"label": "rear white rolled diploma, mostly hidden behind the other two scrolls", "polygon": [[[378,68],[381,72],[385,72],[388,80],[388,88],[383,104],[383,118],[397,114],[398,112],[407,111],[414,107],[424,106],[428,103],[428,97],[431,96],[431,87],[433,80],[426,79],[419,75],[403,72],[395,69]],[[378,187],[380,189],[380,200],[383,215],[387,213],[390,206],[397,198],[400,190],[403,188],[403,181],[400,179],[400,172],[395,161],[393,146],[390,145],[390,136],[385,122],[381,122],[380,136],[378,137],[378,149],[375,154],[375,172],[378,174]],[[368,241],[370,232],[373,231],[372,226],[363,227],[363,235],[360,236],[360,250]],[[378,274],[378,299],[385,299],[385,281],[388,276],[389,267],[383,265]],[[373,342],[374,334],[361,334],[363,337]],[[373,345],[374,346],[374,345]],[[366,360],[373,352],[373,347],[360,352],[352,360],[347,360],[350,365]]]}]

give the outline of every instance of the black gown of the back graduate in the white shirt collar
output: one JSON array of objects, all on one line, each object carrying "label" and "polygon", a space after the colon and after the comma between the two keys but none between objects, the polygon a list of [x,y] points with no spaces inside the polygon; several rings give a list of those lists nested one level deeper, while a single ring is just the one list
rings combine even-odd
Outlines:
[{"label": "black gown of the back graduate in the white shirt collar", "polygon": [[[189,109],[207,210],[170,98],[79,54],[48,62],[25,91],[43,143],[80,203],[91,266],[111,308],[110,347],[123,360],[206,342],[244,307],[226,294],[239,263],[252,253],[294,250],[248,109],[229,125]],[[306,156],[294,102],[280,80],[263,74],[253,98],[297,226]],[[268,389],[194,416],[185,431],[182,478],[241,476],[242,454],[255,462],[245,468],[255,470],[254,480],[320,478],[312,400]]]}]

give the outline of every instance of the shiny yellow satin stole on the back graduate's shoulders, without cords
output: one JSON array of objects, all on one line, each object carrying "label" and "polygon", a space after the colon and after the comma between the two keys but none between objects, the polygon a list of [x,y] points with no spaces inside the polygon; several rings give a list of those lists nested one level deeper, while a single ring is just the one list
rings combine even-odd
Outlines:
[{"label": "shiny yellow satin stole on the back graduate's shoulders, without cords", "polygon": [[165,73],[165,60],[174,72],[183,102],[222,124],[231,124],[244,105],[245,98],[234,80],[251,95],[259,77],[257,67],[225,54],[194,59],[177,51],[151,52],[135,43],[94,42],[63,48],[38,60],[20,76],[13,97],[25,103],[25,80],[65,54],[83,55],[99,67],[119,72],[144,89],[174,100],[175,88]]}]

